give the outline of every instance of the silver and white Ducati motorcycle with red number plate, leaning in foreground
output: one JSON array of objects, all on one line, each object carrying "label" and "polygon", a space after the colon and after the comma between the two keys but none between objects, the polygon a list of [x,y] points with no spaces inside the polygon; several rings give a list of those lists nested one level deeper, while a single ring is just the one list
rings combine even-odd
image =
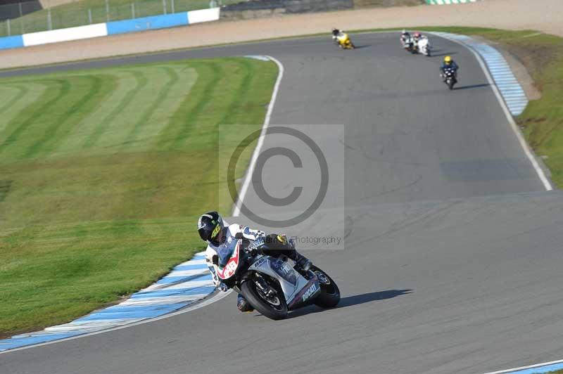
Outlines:
[{"label": "silver and white Ducati motorcycle with red number plate, leaning in foreground", "polygon": [[217,276],[229,288],[243,295],[263,316],[279,320],[290,310],[315,304],[335,307],[340,290],[327,273],[317,266],[304,271],[290,266],[285,256],[272,257],[244,238],[232,241],[213,257]]}]

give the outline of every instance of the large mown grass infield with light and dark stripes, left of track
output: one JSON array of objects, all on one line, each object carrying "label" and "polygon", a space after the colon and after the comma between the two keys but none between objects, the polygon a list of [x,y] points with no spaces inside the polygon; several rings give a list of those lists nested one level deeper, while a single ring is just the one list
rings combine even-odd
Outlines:
[{"label": "large mown grass infield with light and dark stripes, left of track", "polygon": [[217,145],[260,129],[276,77],[224,58],[0,79],[0,337],[116,302],[202,250],[199,214],[232,206]]}]

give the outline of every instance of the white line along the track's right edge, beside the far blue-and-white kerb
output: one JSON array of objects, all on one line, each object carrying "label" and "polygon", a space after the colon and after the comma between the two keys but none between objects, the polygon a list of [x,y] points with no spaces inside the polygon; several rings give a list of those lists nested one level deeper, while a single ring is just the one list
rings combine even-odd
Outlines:
[{"label": "white line along the track's right edge, beside the far blue-and-white kerb", "polygon": [[[430,32],[430,34],[434,34],[434,32]],[[531,152],[528,143],[526,143],[526,139],[524,139],[524,136],[522,136],[521,132],[519,131],[516,122],[514,122],[514,118],[512,118],[512,115],[510,114],[510,110],[508,110],[504,98],[502,98],[502,96],[500,95],[500,92],[498,91],[498,87],[493,81],[493,78],[491,77],[488,68],[486,67],[485,63],[483,63],[483,58],[481,58],[481,55],[477,51],[475,51],[475,49],[472,46],[469,46],[468,44],[465,44],[462,41],[452,39],[445,35],[440,35],[440,34],[434,34],[434,35],[436,35],[437,37],[448,39],[449,41],[453,41],[454,43],[460,44],[461,46],[464,46],[465,48],[469,49],[469,51],[471,51],[474,54],[474,56],[477,58],[477,61],[479,62],[479,65],[481,65],[481,70],[483,70],[483,72],[485,73],[485,77],[487,78],[488,83],[491,85],[491,88],[493,89],[493,92],[495,93],[495,96],[497,97],[497,100],[500,103],[502,110],[505,112],[505,116],[508,122],[510,123],[510,127],[512,128],[512,131],[514,131],[514,134],[517,136],[520,146],[522,147],[524,153],[526,153],[526,156],[530,160],[533,169],[536,170],[536,174],[538,174],[538,177],[540,181],[543,183],[545,190],[552,191],[553,187],[548,177],[545,176],[543,169],[540,167],[538,161],[536,160],[536,157],[534,157],[533,153]]]}]

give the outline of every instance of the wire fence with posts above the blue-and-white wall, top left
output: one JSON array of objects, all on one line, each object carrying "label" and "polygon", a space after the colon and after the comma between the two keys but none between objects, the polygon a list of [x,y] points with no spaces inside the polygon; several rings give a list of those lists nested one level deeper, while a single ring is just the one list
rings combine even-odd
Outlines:
[{"label": "wire fence with posts above the blue-and-white wall, top left", "polygon": [[0,37],[215,8],[244,0],[82,0],[41,9],[36,1],[0,6]]}]

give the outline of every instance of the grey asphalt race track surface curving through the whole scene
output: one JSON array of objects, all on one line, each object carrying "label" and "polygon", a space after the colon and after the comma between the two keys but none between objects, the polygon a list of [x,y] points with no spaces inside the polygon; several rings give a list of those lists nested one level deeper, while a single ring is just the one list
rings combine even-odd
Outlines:
[{"label": "grey asphalt race track surface curving through the whole scene", "polygon": [[[355,51],[306,38],[25,70],[278,58],[285,76],[272,126],[343,125],[343,134],[312,136],[333,175],[319,210],[343,221],[298,226],[299,235],[346,235],[343,250],[307,252],[343,298],[336,309],[270,321],[239,313],[230,295],[160,321],[0,354],[0,373],[479,374],[561,359],[563,195],[543,191],[479,63],[444,39],[433,39],[433,58],[407,55],[396,34],[354,41]],[[461,65],[453,92],[438,78],[445,53]],[[268,139],[262,149],[274,146]],[[291,192],[292,168],[270,160],[262,178],[271,195]],[[298,182],[305,198],[318,191],[315,177]],[[272,211],[252,189],[244,202]],[[279,215],[291,216],[284,209]]]}]

